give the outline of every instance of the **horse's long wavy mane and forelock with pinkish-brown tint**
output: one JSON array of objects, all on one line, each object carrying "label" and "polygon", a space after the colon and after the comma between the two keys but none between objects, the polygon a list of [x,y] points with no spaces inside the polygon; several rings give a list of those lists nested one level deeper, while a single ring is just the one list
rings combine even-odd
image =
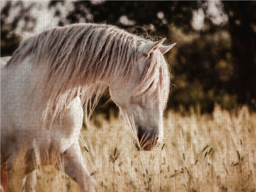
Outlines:
[{"label": "horse's long wavy mane and forelock with pinkish-brown tint", "polygon": [[[53,120],[63,116],[64,109],[78,95],[87,117],[87,108],[90,116],[108,88],[106,83],[113,82],[115,78],[122,78],[123,83],[131,80],[138,48],[150,42],[106,24],[57,27],[23,39],[5,68],[15,67],[32,57],[30,73],[36,77],[30,79],[27,91],[30,96],[37,97],[40,105],[44,105],[45,117],[51,114]],[[137,90],[149,95],[161,89],[165,91],[167,101],[170,74],[167,63],[161,62],[161,59],[164,57],[159,51],[151,53]],[[118,76],[124,71],[124,76]],[[152,86],[153,83],[157,86]],[[34,108],[38,103],[34,104]]]}]

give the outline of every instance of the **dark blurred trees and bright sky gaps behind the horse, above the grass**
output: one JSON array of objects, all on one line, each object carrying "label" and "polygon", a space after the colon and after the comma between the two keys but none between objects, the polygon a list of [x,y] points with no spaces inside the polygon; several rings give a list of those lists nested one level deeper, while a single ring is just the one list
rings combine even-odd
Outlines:
[{"label": "dark blurred trees and bright sky gaps behind the horse, above the grass", "polygon": [[[256,1],[1,1],[1,57],[11,56],[20,34],[78,22],[106,22],[138,35],[177,43],[168,108],[183,116],[237,113],[256,103]],[[96,109],[116,109],[106,93]]]}]

